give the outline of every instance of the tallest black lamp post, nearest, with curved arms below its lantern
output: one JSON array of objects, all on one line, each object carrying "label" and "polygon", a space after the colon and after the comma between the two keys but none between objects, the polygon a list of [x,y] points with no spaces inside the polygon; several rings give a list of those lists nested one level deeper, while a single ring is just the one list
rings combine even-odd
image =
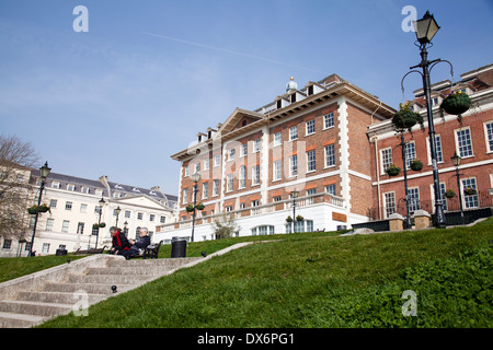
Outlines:
[{"label": "tallest black lamp post, nearest, with curved arms below its lantern", "polygon": [[[410,67],[410,69],[413,69],[412,71],[408,72],[404,78],[402,78],[401,86],[403,89],[403,81],[405,77],[408,77],[410,73],[417,72],[423,78],[423,89],[424,94],[426,97],[426,115],[428,119],[428,133],[429,133],[429,152],[432,155],[432,166],[433,166],[433,182],[434,182],[434,191],[435,191],[435,226],[436,228],[445,228],[445,214],[444,214],[444,206],[442,201],[442,192],[440,192],[440,183],[438,178],[438,165],[436,161],[436,139],[435,139],[435,126],[433,121],[433,114],[432,114],[432,98],[431,98],[431,92],[432,92],[432,84],[429,82],[429,72],[435,67],[435,65],[439,62],[446,62],[450,66],[450,72],[454,73],[452,66],[447,60],[442,59],[435,59],[433,61],[428,61],[428,51],[426,50],[426,46],[433,45],[432,39],[435,36],[435,34],[440,28],[438,24],[435,21],[435,18],[433,14],[429,14],[429,11],[426,11],[423,19],[419,21],[414,21],[414,30],[416,32],[416,38],[419,42],[419,45],[421,50],[421,62],[420,65],[416,65],[414,67]],[[414,70],[414,68],[422,68],[423,72],[420,72],[419,70]]]}]

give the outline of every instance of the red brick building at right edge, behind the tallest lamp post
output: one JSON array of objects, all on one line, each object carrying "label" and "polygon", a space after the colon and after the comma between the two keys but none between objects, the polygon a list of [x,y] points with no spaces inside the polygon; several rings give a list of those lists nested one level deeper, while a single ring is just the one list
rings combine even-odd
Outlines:
[{"label": "red brick building at right edge, behind the tallest lamp post", "polygon": [[[475,196],[462,196],[463,209],[491,206],[490,189],[493,188],[493,65],[466,72],[461,80],[452,84],[446,80],[432,86],[433,116],[437,143],[437,164],[440,191],[451,189],[463,194],[466,187],[478,190]],[[472,100],[472,107],[465,113],[462,121],[457,116],[440,116],[439,105],[451,91],[462,91]],[[433,173],[429,153],[429,138],[426,122],[426,106],[423,90],[414,92],[412,108],[423,115],[425,130],[414,127],[413,132],[404,135],[405,158],[408,163],[408,186],[410,210],[423,209],[433,213],[435,210],[433,191]],[[368,140],[371,148],[372,198],[368,208],[371,219],[386,219],[393,212],[406,214],[405,194],[402,172],[390,177],[386,168],[395,164],[403,168],[401,140],[392,129],[390,120],[368,126]],[[460,189],[457,187],[456,167],[450,158],[454,153],[461,158]],[[409,162],[419,159],[424,166],[421,172],[409,168]],[[459,210],[459,198],[444,197],[446,211]]]}]

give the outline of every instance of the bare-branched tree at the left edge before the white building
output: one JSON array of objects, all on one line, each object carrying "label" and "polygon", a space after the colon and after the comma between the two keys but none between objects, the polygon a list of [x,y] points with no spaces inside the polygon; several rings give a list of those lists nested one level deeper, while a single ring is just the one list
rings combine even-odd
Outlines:
[{"label": "bare-branched tree at the left edge before the white building", "polygon": [[30,185],[37,155],[31,143],[0,135],[0,236],[22,238],[28,228],[26,208],[35,188]]}]

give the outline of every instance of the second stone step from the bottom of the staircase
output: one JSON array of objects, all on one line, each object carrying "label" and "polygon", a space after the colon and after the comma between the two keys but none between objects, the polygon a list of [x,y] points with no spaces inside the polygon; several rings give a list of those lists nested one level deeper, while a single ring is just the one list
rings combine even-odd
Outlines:
[{"label": "second stone step from the bottom of the staircase", "polygon": [[72,305],[58,303],[26,302],[18,300],[0,301],[0,312],[51,317],[67,314]]}]

